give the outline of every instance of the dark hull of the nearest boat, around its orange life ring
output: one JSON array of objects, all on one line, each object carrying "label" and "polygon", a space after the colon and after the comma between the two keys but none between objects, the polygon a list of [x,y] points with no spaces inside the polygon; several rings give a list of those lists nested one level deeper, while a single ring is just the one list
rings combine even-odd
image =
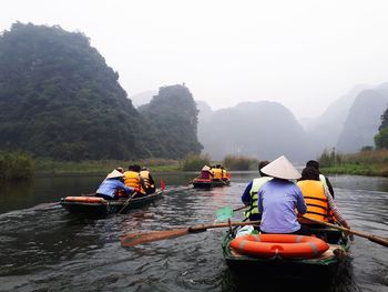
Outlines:
[{"label": "dark hull of the nearest boat, around its orange life ring", "polygon": [[[306,253],[306,256],[302,256],[300,254],[297,256],[282,256],[276,251],[282,243],[276,242],[273,244],[275,253],[272,255],[268,253],[247,254],[231,246],[233,240],[236,239],[236,230],[232,229],[223,238],[223,256],[229,269],[239,274],[254,272],[269,278],[282,276],[293,279],[330,276],[336,273],[339,263],[349,258],[348,251],[351,241],[341,231],[334,228],[314,228],[312,232],[316,238],[324,239],[323,241],[327,243],[327,249],[316,256],[313,256],[309,252]],[[292,236],[287,234],[282,235]],[[303,238],[302,235],[298,236]]]}]

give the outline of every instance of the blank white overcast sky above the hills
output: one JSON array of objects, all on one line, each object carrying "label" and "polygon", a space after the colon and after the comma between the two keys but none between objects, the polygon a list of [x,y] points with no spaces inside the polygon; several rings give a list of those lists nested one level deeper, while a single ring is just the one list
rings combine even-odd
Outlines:
[{"label": "blank white overcast sky above the hills", "polygon": [[388,81],[387,16],[386,0],[3,0],[0,31],[85,33],[130,97],[184,82],[213,109],[272,100],[299,119]]}]

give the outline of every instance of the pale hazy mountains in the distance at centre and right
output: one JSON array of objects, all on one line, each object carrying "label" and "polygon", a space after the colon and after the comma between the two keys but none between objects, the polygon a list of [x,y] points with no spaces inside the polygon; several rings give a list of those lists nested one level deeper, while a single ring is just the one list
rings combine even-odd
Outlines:
[{"label": "pale hazy mountains in the distance at centre and right", "polygon": [[[136,95],[132,100],[136,104]],[[374,145],[388,104],[388,83],[353,88],[304,127],[277,102],[242,102],[215,111],[205,101],[197,100],[196,104],[198,141],[203,153],[213,159],[226,154],[275,159],[285,154],[302,162],[318,158],[324,150],[353,153]]]}]

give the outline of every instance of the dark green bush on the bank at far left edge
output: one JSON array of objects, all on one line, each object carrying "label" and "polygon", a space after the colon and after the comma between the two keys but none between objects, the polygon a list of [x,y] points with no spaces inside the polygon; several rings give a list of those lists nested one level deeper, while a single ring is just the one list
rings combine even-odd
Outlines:
[{"label": "dark green bush on the bank at far left edge", "polygon": [[0,152],[0,181],[25,180],[32,175],[32,160],[18,152]]}]

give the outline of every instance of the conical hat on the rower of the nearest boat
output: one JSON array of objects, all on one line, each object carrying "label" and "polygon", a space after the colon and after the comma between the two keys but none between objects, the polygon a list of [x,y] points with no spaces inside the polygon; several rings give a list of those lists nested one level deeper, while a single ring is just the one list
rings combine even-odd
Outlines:
[{"label": "conical hat on the rower of the nearest boat", "polygon": [[274,160],[262,169],[262,172],[278,179],[297,180],[300,179],[300,173],[284,155]]}]

